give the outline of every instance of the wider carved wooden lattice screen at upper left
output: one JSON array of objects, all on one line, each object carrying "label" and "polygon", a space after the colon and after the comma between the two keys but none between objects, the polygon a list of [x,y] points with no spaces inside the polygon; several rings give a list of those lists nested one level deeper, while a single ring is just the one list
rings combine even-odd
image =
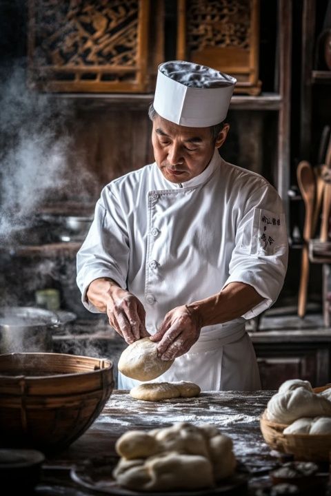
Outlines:
[{"label": "wider carved wooden lattice screen at upper left", "polygon": [[150,91],[149,16],[150,0],[30,0],[30,85],[50,92]]}]

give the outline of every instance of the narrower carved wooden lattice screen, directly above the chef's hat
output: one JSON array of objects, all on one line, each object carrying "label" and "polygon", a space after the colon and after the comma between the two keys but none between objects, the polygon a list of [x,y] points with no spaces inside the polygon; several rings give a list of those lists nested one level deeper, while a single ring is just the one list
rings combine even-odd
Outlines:
[{"label": "narrower carved wooden lattice screen, directly above the chef's hat", "polygon": [[178,0],[177,59],[236,77],[234,92],[259,94],[259,0]]}]

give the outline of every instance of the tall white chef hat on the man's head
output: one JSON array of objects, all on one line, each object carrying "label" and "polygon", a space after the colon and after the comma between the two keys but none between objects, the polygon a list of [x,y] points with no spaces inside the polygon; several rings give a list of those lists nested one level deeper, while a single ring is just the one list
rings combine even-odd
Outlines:
[{"label": "tall white chef hat on the man's head", "polygon": [[153,106],[163,118],[188,127],[221,123],[237,79],[193,62],[159,65]]}]

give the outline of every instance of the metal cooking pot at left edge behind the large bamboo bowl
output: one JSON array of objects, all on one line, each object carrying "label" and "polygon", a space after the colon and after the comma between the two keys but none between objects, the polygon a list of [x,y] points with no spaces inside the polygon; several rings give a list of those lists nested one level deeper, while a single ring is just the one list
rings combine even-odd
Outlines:
[{"label": "metal cooking pot at left edge behind the large bamboo bowl", "polygon": [[52,351],[57,313],[34,307],[0,308],[0,353]]}]

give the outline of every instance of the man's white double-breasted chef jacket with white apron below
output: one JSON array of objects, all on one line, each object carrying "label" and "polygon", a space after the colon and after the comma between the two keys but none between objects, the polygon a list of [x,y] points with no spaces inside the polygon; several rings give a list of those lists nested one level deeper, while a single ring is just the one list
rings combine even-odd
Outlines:
[{"label": "man's white double-breasted chef jacket with white apron below", "polygon": [[[199,340],[157,381],[189,380],[203,391],[260,389],[245,319],[277,300],[288,263],[283,205],[265,178],[225,162],[215,149],[208,167],[185,183],[168,181],[156,163],[113,180],[101,192],[77,254],[77,284],[86,291],[111,278],[146,309],[154,334],[165,313],[244,282],[263,296],[245,315],[201,329]],[[119,373],[119,389],[139,384]]]}]

